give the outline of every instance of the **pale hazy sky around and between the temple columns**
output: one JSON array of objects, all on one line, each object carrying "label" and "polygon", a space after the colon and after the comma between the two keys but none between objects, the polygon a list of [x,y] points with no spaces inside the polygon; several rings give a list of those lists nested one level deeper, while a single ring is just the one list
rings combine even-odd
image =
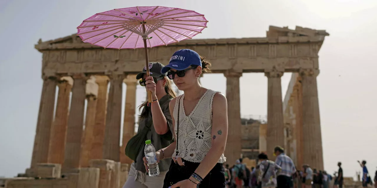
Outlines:
[{"label": "pale hazy sky around and between the temple columns", "polygon": [[[374,174],[376,0],[0,0],[0,176],[16,176],[30,165],[42,88],[41,53],[34,49],[38,39],[76,33],[98,12],[156,5],[204,14],[208,28],[197,39],[265,37],[269,25],[330,33],[319,52],[317,77],[325,170],[333,173],[342,161],[345,176],[356,177],[361,170],[356,161],[365,159]],[[290,77],[282,77],[283,97]],[[202,78],[205,87],[224,93],[225,81],[222,74]],[[240,82],[241,115],[265,116],[267,78],[247,73]],[[138,105],[144,93],[138,88]]]}]

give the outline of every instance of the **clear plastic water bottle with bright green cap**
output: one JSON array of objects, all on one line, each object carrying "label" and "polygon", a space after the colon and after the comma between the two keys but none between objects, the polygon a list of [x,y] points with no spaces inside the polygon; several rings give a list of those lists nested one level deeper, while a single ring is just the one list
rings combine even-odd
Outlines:
[{"label": "clear plastic water bottle with bright green cap", "polygon": [[158,168],[156,149],[151,143],[150,140],[145,141],[144,154],[148,162],[149,176],[154,177],[160,174],[160,169]]}]

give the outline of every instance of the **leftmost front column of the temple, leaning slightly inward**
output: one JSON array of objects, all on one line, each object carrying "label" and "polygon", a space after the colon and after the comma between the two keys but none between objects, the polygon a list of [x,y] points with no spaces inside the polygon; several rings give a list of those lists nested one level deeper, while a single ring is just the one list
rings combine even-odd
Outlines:
[{"label": "leftmost front column of the temple, leaning slightly inward", "polygon": [[56,85],[57,77],[50,76],[43,78],[41,102],[39,106],[37,129],[34,138],[31,167],[35,167],[37,163],[48,162],[51,127],[55,107]]}]

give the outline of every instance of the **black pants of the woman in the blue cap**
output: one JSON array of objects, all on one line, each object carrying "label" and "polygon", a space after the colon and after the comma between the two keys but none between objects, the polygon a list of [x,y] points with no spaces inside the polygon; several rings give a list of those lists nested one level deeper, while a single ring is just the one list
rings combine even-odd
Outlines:
[{"label": "black pants of the woman in the blue cap", "polygon": [[[198,162],[185,161],[184,159],[182,161],[185,162],[185,165],[181,167],[172,160],[172,164],[164,179],[163,188],[168,188],[179,181],[189,179],[200,164]],[[221,167],[222,164],[217,163],[207,176],[203,177],[203,181],[199,184],[198,188],[225,188],[225,174]]]}]

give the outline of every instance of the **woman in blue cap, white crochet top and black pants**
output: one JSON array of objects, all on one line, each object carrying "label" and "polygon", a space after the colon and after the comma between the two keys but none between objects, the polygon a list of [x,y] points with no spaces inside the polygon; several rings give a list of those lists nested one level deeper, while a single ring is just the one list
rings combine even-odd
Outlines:
[{"label": "woman in blue cap, white crochet top and black pants", "polygon": [[161,69],[184,91],[169,103],[175,141],[163,149],[165,158],[173,158],[164,188],[225,188],[221,167],[226,161],[227,99],[200,85],[201,74],[210,72],[210,63],[203,59],[193,50],[182,49]]}]

